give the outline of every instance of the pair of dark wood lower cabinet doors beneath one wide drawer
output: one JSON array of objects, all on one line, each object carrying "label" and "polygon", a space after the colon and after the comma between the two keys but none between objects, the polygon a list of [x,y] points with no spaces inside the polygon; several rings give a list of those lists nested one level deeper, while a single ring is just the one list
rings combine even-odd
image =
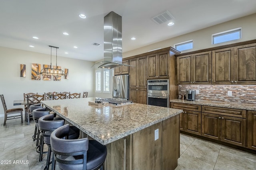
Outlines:
[{"label": "pair of dark wood lower cabinet doors beneath one wide drawer", "polygon": [[246,119],[202,113],[202,136],[246,147]]}]

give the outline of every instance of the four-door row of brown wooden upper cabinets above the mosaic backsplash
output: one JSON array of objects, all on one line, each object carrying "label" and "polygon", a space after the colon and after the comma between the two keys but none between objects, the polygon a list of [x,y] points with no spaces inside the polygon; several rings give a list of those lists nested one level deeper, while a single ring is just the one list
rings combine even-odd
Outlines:
[{"label": "four-door row of brown wooden upper cabinets above the mosaic backsplash", "polygon": [[178,84],[256,84],[256,40],[176,57]]}]

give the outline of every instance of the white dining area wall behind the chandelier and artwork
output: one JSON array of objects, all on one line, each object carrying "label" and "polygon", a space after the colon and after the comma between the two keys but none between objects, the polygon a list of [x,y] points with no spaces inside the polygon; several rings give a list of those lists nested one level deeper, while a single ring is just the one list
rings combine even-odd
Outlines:
[{"label": "white dining area wall behind the chandelier and artwork", "polygon": [[[0,94],[4,94],[7,108],[23,107],[13,106],[13,100],[22,100],[23,93],[33,92],[88,92],[88,97],[94,96],[94,64],[90,61],[70,59],[58,56],[58,66],[68,68],[69,79],[61,81],[31,80],[31,64],[50,64],[50,55],[34,53],[18,49],[0,47]],[[53,57],[52,63],[56,63]],[[20,77],[20,64],[26,64],[26,77]],[[53,64],[55,65],[55,64]],[[4,114],[0,104],[0,116]]]}]

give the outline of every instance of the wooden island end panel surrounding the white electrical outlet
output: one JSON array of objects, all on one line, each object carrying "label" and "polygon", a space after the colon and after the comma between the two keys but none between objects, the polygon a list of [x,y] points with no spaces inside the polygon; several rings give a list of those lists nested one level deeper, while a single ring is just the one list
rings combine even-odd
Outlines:
[{"label": "wooden island end panel surrounding the white electrical outlet", "polygon": [[[159,138],[155,140],[155,130]],[[160,170],[162,148],[162,122],[142,129],[132,135],[132,169]]]}]

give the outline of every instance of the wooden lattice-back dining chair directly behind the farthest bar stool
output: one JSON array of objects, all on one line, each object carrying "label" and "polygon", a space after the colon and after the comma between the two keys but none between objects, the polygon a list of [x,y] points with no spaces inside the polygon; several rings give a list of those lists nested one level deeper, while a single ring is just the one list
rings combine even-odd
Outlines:
[{"label": "wooden lattice-back dining chair directly behind the farthest bar stool", "polygon": [[30,117],[31,117],[31,120],[32,119],[32,110],[30,110],[30,106],[33,105],[33,104],[40,104],[40,102],[42,100],[44,100],[44,94],[43,95],[40,95],[40,94],[34,94],[34,95],[27,95],[27,109],[26,109],[26,112],[25,112],[25,116],[26,116],[26,120],[28,122],[28,125],[30,123]]}]

